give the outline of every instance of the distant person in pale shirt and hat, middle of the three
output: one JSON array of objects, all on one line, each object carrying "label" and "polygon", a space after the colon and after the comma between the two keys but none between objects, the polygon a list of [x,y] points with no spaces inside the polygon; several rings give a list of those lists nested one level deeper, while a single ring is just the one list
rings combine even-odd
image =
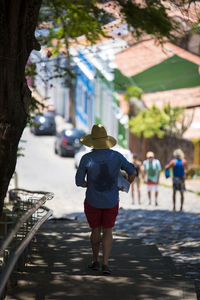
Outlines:
[{"label": "distant person in pale shirt and hat, middle of the three", "polygon": [[155,191],[155,205],[158,205],[158,184],[160,179],[161,165],[158,159],[155,159],[152,151],[147,152],[144,166],[144,181],[147,184],[147,193],[149,205],[151,205],[151,192]]}]

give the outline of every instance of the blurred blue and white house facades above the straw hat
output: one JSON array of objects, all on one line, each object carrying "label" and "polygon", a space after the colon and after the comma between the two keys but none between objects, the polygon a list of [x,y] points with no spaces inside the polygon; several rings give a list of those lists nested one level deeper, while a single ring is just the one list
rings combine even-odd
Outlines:
[{"label": "blurred blue and white house facades above the straw hat", "polygon": [[115,96],[112,58],[105,55],[105,49],[81,50],[74,59],[77,68],[76,126],[89,132],[94,123],[101,123],[108,134],[126,148],[128,134],[120,122],[124,115]]}]

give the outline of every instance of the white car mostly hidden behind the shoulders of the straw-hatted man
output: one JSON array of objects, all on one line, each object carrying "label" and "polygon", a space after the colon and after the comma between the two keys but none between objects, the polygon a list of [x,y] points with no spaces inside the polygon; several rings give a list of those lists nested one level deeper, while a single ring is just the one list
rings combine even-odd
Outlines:
[{"label": "white car mostly hidden behind the shoulders of the straw-hatted man", "polygon": [[[122,148],[119,145],[116,145],[111,149],[120,152],[124,157],[126,157],[126,159],[128,161],[130,161],[130,162],[132,161],[132,154],[131,154],[131,151],[129,149]],[[74,155],[74,166],[75,166],[76,169],[78,168],[78,166],[80,164],[81,157],[84,154],[90,152],[91,150],[92,150],[91,148],[89,148],[85,145],[82,145],[81,148],[75,153],[75,155]]]}]

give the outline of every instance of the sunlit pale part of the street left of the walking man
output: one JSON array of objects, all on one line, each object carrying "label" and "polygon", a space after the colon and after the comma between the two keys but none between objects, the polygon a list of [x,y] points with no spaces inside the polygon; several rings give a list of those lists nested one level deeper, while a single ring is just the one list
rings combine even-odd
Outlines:
[{"label": "sunlit pale part of the street left of the walking man", "polygon": [[47,204],[56,217],[63,213],[82,211],[84,191],[74,184],[74,159],[54,154],[54,136],[34,136],[26,128],[22,137],[26,143],[24,157],[19,157],[17,174],[19,187],[53,192],[54,199]]}]

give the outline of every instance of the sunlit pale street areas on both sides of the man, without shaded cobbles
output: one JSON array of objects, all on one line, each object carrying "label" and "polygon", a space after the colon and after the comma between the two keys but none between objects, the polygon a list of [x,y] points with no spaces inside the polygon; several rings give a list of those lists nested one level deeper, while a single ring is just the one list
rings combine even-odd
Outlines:
[{"label": "sunlit pale street areas on both sides of the man, without shaded cobbles", "polygon": [[[16,170],[20,188],[53,192],[55,197],[47,203],[47,206],[53,209],[55,217],[64,217],[70,213],[83,211],[85,190],[75,185],[74,159],[54,154],[54,139],[53,136],[34,136],[26,128],[22,137],[26,142],[20,144],[25,148],[23,151],[25,156],[18,158]],[[123,192],[120,193],[120,206],[131,210],[171,211],[170,188],[160,186],[158,207],[148,205],[145,185],[142,185],[141,190],[141,206],[132,205],[130,194]],[[200,197],[194,193],[186,193],[185,198],[185,212],[200,213]],[[177,209],[179,209],[179,197],[177,200]]]}]

